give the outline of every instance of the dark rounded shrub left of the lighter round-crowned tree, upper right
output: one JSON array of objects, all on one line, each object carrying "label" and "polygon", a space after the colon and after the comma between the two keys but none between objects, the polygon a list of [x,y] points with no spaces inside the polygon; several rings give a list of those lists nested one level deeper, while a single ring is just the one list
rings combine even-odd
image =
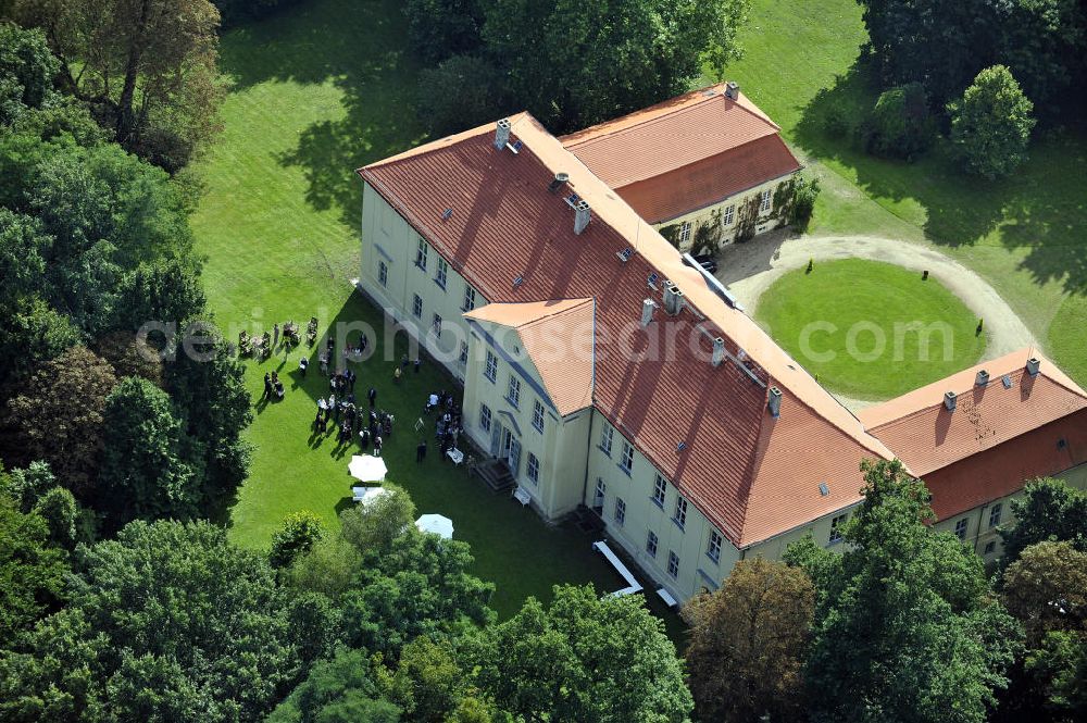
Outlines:
[{"label": "dark rounded shrub left of the lighter round-crowned tree, upper right", "polygon": [[928,150],[935,136],[925,87],[908,83],[884,91],[876,100],[865,128],[865,147],[876,155],[910,160]]}]

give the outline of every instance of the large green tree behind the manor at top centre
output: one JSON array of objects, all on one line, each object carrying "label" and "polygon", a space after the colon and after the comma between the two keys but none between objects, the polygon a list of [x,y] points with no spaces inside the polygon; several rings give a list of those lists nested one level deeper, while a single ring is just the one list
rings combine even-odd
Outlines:
[{"label": "large green tree behind the manor at top centre", "polygon": [[749,0],[498,0],[484,8],[488,59],[508,89],[565,133],[665,100],[739,55]]}]

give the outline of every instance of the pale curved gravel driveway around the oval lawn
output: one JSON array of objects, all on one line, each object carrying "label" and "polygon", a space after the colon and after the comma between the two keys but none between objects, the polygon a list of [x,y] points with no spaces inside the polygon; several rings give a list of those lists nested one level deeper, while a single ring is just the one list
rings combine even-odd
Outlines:
[{"label": "pale curved gravel driveway around the oval lawn", "polygon": [[[747,306],[748,313],[754,315],[759,297],[785,272],[807,264],[809,259],[819,263],[849,258],[884,261],[919,273],[927,270],[930,278],[944,284],[979,319],[985,320],[989,337],[986,358],[1038,346],[1022,320],[985,279],[936,250],[908,241],[872,236],[789,238],[785,232],[773,232],[722,250],[717,278]],[[851,410],[873,403],[835,396]]]}]

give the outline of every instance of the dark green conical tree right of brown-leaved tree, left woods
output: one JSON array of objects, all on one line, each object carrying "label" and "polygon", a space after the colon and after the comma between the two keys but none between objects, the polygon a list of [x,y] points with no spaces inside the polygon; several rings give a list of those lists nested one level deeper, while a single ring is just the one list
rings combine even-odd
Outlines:
[{"label": "dark green conical tree right of brown-leaved tree, left woods", "polygon": [[125,377],[105,400],[101,506],[114,524],[197,516],[202,470],[190,459],[170,397],[147,379]]}]

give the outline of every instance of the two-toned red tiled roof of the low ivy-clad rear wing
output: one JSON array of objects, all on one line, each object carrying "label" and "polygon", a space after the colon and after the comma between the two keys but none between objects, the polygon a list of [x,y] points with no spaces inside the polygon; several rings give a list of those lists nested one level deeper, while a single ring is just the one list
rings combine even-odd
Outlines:
[{"label": "two-toned red tiled roof of the low ivy-clad rear wing", "polygon": [[724,84],[561,138],[649,223],[662,223],[800,170],[778,128]]}]

